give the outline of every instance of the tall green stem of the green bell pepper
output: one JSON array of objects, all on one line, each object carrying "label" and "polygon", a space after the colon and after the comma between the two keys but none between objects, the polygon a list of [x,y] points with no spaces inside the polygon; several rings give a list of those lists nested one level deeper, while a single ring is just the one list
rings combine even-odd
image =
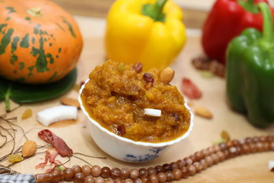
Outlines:
[{"label": "tall green stem of the green bell pepper", "polygon": [[258,7],[260,11],[262,12],[263,17],[263,30],[262,30],[262,36],[264,42],[272,42],[274,40],[274,34],[273,34],[273,19],[272,14],[269,8],[269,5],[262,2],[258,4]]}]

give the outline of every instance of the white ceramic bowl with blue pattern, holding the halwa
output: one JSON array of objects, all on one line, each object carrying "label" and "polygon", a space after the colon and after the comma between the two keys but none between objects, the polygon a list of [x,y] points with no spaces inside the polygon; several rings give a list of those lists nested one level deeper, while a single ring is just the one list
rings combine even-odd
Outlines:
[{"label": "white ceramic bowl with blue pattern, holding the halwa", "polygon": [[90,135],[95,143],[103,151],[105,151],[106,154],[116,158],[117,160],[125,162],[147,162],[149,160],[153,160],[160,156],[160,154],[162,154],[167,147],[170,147],[175,143],[179,143],[179,141],[186,138],[192,130],[193,114],[188,105],[184,103],[186,108],[190,111],[190,126],[184,135],[179,136],[175,140],[164,143],[143,143],[118,136],[102,127],[99,123],[97,123],[97,121],[90,117],[88,112],[86,112],[86,109],[82,103],[81,93],[88,81],[89,80],[86,80],[85,84],[83,84],[82,88],[79,90],[78,100],[84,114],[86,114],[86,117],[88,117],[90,121],[90,123],[88,123]]}]

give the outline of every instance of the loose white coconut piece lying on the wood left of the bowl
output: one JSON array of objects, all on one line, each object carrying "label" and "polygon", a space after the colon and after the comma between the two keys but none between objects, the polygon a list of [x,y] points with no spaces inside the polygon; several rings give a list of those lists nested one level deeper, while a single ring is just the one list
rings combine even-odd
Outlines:
[{"label": "loose white coconut piece lying on the wood left of the bowl", "polygon": [[52,108],[47,108],[41,110],[37,113],[37,121],[42,123],[42,125],[48,126],[51,123],[68,120],[77,119],[77,107],[75,106],[54,106]]}]

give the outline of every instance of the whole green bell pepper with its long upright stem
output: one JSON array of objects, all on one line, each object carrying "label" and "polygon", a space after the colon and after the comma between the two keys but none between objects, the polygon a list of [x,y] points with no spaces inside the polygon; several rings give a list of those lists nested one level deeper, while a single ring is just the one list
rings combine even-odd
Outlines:
[{"label": "whole green bell pepper with its long upright stem", "polygon": [[245,29],[227,48],[227,99],[251,124],[267,127],[274,122],[274,32],[269,5],[259,3],[258,8],[262,33]]}]

